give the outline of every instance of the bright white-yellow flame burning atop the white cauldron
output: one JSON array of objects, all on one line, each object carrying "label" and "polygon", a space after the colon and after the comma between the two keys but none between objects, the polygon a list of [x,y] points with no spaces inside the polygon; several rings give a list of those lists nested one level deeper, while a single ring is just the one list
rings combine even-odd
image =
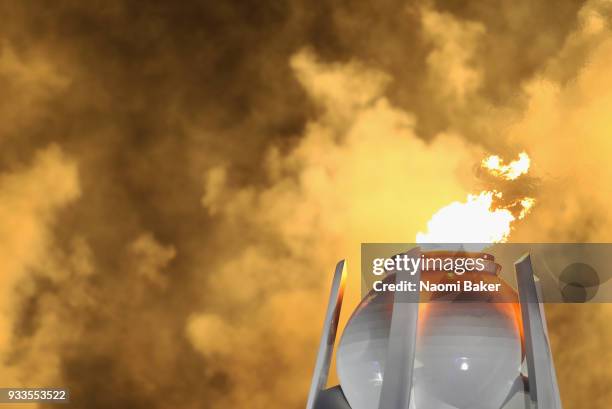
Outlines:
[{"label": "bright white-yellow flame burning atop the white cauldron", "polygon": [[[492,175],[515,180],[528,172],[531,160],[523,152],[518,160],[503,165],[492,155],[482,161],[482,167]],[[453,202],[438,210],[427,222],[427,232],[419,232],[417,243],[503,243],[508,240],[512,223],[529,214],[535,199],[523,197],[503,203],[503,193],[485,190],[470,194],[465,202]]]}]

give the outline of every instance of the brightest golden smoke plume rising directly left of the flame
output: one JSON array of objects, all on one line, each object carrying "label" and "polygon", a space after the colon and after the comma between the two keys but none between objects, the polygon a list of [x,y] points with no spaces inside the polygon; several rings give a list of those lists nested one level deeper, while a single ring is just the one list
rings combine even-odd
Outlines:
[{"label": "brightest golden smoke plume rising directly left of the flame", "polygon": [[384,97],[390,80],[380,72],[324,64],[310,51],[291,66],[321,109],[300,143],[284,156],[271,149],[265,188],[232,187],[223,169],[206,178],[203,203],[228,221],[228,236],[252,234],[210,276],[216,313],[188,326],[196,348],[240,385],[213,407],[299,407],[304,396],[287,391],[308,389],[320,329],[304,323],[320,321],[339,255],[358,260],[366,238],[413,241],[432,212],[464,194],[462,167],[481,156],[454,135],[423,142],[413,115]]}]

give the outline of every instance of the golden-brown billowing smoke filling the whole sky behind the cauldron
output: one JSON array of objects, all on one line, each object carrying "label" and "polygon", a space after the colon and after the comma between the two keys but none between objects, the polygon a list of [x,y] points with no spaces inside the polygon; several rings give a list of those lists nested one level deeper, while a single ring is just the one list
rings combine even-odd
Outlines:
[{"label": "golden-brown billowing smoke filling the whole sky behind the cauldron", "polygon": [[[302,407],[335,262],[344,322],[359,244],[413,241],[490,153],[533,160],[511,240],[610,240],[604,1],[0,9],[2,386]],[[549,308],[567,408],[612,399],[611,311]]]}]

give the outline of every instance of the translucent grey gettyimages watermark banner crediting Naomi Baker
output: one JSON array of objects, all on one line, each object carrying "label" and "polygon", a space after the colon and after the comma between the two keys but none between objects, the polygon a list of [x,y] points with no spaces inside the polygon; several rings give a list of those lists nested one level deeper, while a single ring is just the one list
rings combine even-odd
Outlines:
[{"label": "translucent grey gettyimages watermark banner crediting Naomi Baker", "polygon": [[[509,296],[516,288],[514,263],[525,255],[542,302],[612,302],[611,243],[366,243],[362,293],[418,291],[424,294],[419,302],[488,294],[492,302],[515,302]],[[407,279],[396,280],[399,273]]]}]

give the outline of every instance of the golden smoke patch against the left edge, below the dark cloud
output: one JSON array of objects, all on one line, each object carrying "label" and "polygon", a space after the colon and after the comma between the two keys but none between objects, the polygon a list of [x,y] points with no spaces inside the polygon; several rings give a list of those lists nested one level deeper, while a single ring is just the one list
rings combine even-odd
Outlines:
[{"label": "golden smoke patch against the left edge, below the dark cloud", "polygon": [[[64,272],[56,265],[50,231],[57,222],[57,212],[73,202],[79,193],[74,163],[57,146],[39,151],[31,165],[0,175],[0,354],[4,357],[0,381],[3,384],[20,386],[26,379],[45,383],[57,377],[56,357],[43,353],[46,340],[38,335],[27,340],[21,337],[27,332],[20,320],[20,310],[27,306],[21,300],[32,297],[39,280],[63,279]],[[50,315],[41,317],[41,332],[53,319]],[[11,365],[13,360],[20,365]],[[32,365],[41,366],[28,374],[27,367]]]}]

